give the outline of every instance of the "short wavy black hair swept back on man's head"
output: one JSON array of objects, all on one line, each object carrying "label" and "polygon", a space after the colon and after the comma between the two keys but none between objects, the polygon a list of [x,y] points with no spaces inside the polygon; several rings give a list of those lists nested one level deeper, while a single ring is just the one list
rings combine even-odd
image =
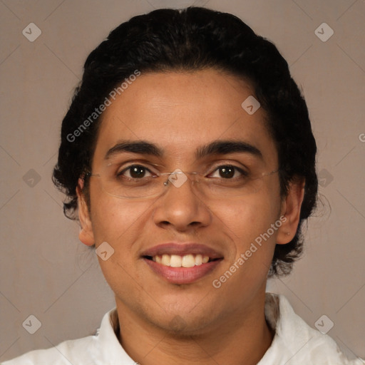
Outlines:
[{"label": "short wavy black hair swept back on man's head", "polygon": [[206,68],[226,71],[251,83],[277,147],[282,196],[294,178],[305,179],[297,233],[287,245],[276,245],[269,269],[270,277],[289,274],[302,254],[302,223],[317,203],[317,146],[307,104],[290,76],[287,61],[272,42],[232,14],[195,6],[157,9],[120,24],[90,53],[63,118],[58,163],[53,170],[53,182],[67,196],[65,215],[77,219],[76,186],[78,178],[91,169],[101,120],[95,111],[110,91],[136,71]]}]

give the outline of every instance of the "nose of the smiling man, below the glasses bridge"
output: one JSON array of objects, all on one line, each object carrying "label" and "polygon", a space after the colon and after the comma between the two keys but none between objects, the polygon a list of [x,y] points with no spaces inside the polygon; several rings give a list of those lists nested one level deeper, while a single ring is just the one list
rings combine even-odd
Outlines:
[{"label": "nose of the smiling man, below the glasses bridge", "polygon": [[[197,194],[192,187],[192,181],[188,178],[180,185],[181,182],[174,181],[173,178],[166,181],[167,191],[156,202],[153,213],[155,225],[165,228],[173,227],[179,232],[210,225],[212,213],[208,202]],[[181,175],[180,178],[182,178]]]}]

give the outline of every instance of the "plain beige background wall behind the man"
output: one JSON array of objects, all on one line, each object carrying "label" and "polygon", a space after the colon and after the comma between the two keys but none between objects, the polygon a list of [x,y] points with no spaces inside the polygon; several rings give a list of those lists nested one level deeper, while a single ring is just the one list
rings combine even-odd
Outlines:
[{"label": "plain beige background wall behind the man", "polygon": [[[154,8],[191,4],[0,0],[1,360],[91,334],[114,306],[96,255],[78,242],[51,183],[61,120],[86,56],[111,29]],[[303,259],[269,289],[286,294],[312,327],[326,314],[341,349],[364,357],[365,1],[195,5],[236,14],[274,41],[304,90],[324,205],[309,222]],[[34,42],[22,34],[31,22],[42,32]],[[326,42],[314,34],[323,22],[334,30]],[[33,335],[22,327],[31,314],[41,322]]]}]

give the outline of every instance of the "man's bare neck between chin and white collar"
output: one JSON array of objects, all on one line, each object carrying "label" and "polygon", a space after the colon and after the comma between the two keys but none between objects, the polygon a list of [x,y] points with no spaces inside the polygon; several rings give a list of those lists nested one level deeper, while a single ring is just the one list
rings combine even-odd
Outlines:
[{"label": "man's bare neck between chin and white collar", "polygon": [[143,321],[117,301],[119,341],[141,365],[255,365],[274,337],[264,317],[264,296],[257,302],[259,307],[255,302],[199,334],[174,334]]}]

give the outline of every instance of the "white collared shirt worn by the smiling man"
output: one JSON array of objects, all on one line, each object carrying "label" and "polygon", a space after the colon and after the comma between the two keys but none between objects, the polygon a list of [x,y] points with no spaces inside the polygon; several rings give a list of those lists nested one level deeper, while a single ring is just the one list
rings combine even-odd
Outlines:
[{"label": "white collared shirt worn by the smiling man", "polygon": [[[94,336],[64,341],[46,350],[30,351],[2,365],[135,365],[120,346],[106,313]],[[265,317],[275,329],[271,346],[257,365],[364,365],[349,360],[327,334],[309,327],[283,295],[266,293]]]}]

